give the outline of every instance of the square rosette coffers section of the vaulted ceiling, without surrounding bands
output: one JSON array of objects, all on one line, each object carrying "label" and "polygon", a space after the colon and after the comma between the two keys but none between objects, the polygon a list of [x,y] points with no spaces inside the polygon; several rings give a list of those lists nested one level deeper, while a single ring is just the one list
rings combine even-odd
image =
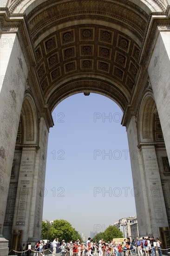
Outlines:
[{"label": "square rosette coffers section of the vaulted ceiling, without surrounding bands", "polygon": [[78,74],[116,80],[131,95],[140,47],[118,30],[73,26],[54,32],[36,47],[37,73],[45,97],[56,82]]}]

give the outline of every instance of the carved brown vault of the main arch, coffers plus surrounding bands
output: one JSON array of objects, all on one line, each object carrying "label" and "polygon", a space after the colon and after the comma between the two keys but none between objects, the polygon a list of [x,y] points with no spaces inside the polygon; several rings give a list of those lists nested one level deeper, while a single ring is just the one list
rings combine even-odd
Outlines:
[{"label": "carved brown vault of the main arch, coffers plus surrounding bands", "polygon": [[[119,5],[118,1],[114,6],[111,1],[103,5],[101,0],[44,1],[30,9],[27,21],[37,57],[39,85],[47,104],[51,105],[54,92],[58,95],[66,86],[69,88],[69,80],[71,88],[74,79],[86,90],[96,81],[98,88],[94,91],[101,90],[109,97],[114,88],[126,99],[122,102],[128,104],[140,70],[138,58],[149,18],[142,7],[131,1],[128,5]],[[102,83],[106,89],[99,88]],[[73,88],[76,90],[75,85]],[[120,105],[120,100],[115,100]]]}]

